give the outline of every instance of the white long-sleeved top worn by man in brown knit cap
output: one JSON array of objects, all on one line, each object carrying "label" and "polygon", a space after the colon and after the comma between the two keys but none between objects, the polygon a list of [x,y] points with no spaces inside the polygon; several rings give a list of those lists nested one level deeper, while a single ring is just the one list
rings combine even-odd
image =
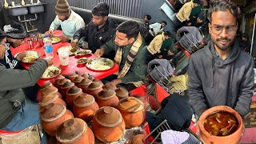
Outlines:
[{"label": "white long-sleeved top worn by man in brown knit cap", "polygon": [[62,32],[64,36],[68,38],[73,38],[74,33],[83,26],[85,26],[85,22],[80,15],[76,14],[73,10],[71,10],[70,18],[66,19],[63,22],[58,19],[58,16],[56,16],[54,22],[50,24],[50,29],[56,30],[58,26],[62,27]]}]

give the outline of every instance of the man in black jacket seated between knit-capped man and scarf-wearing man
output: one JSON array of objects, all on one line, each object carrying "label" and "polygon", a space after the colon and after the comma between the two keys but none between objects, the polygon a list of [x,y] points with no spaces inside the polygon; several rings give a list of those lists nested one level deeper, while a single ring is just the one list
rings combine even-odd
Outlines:
[{"label": "man in black jacket seated between knit-capped man and scarf-wearing man", "polygon": [[109,6],[105,2],[98,3],[98,5],[94,6],[92,20],[85,27],[74,33],[72,46],[78,46],[79,39],[85,37],[89,49],[94,53],[100,46],[113,38],[118,24],[108,18],[109,11]]}]

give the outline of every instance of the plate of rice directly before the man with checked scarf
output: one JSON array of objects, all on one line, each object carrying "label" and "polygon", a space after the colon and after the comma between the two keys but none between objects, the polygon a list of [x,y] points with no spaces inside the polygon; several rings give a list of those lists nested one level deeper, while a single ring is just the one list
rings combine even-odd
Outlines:
[{"label": "plate of rice directly before the man with checked scarf", "polygon": [[110,70],[114,66],[114,61],[109,58],[95,58],[86,63],[90,70]]}]

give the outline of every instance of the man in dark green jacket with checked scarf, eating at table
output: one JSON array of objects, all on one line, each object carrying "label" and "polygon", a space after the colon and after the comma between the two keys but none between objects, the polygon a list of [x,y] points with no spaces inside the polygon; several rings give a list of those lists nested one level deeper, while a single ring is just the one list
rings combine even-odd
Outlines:
[{"label": "man in dark green jacket with checked scarf, eating at table", "polygon": [[114,62],[119,65],[118,76],[111,76],[111,84],[121,84],[127,90],[133,90],[143,84],[146,76],[146,47],[137,22],[122,22],[116,30],[114,38],[100,49],[95,56],[115,53]]}]

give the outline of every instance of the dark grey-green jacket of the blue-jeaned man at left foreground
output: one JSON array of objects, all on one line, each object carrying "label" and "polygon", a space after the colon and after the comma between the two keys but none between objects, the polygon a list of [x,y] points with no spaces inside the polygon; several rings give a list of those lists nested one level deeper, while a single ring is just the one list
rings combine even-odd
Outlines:
[{"label": "dark grey-green jacket of the blue-jeaned man at left foreground", "polygon": [[0,128],[10,123],[23,106],[26,96],[21,89],[34,86],[46,67],[45,60],[38,60],[28,70],[6,69],[0,64]]}]

